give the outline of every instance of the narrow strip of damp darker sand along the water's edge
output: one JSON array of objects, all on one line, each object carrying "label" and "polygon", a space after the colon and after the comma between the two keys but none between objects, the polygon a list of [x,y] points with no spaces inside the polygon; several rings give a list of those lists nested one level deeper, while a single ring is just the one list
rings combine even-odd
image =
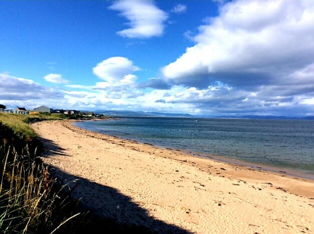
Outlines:
[{"label": "narrow strip of damp darker sand along the water's edge", "polygon": [[[108,119],[112,120],[112,119],[118,119],[118,118],[108,118]],[[100,121],[100,120],[103,121],[103,120],[107,120],[107,119],[80,120],[80,122],[83,122],[83,121]],[[172,148],[169,146],[155,145],[153,143],[142,142],[142,141],[138,141],[138,140],[134,140],[134,139],[130,139],[130,138],[124,138],[124,137],[119,137],[119,136],[115,136],[115,135],[110,135],[110,134],[90,130],[90,129],[80,127],[80,126],[73,124],[75,122],[77,122],[77,121],[76,120],[72,121],[72,125],[74,125],[75,127],[78,127],[78,128],[81,128],[81,129],[84,129],[87,131],[92,131],[95,133],[103,134],[106,136],[116,137],[116,138],[119,138],[122,140],[128,140],[128,141],[139,143],[139,144],[146,144],[146,145],[150,145],[150,146],[154,146],[154,147],[158,147],[158,148],[163,148],[166,150],[168,149],[168,150],[173,150],[173,151],[179,151],[181,153],[189,154],[189,155],[194,156],[194,157],[200,157],[200,158],[209,159],[209,160],[217,160],[217,161],[221,161],[221,162],[232,164],[232,165],[245,166],[247,168],[253,168],[256,170],[264,170],[267,172],[272,172],[275,174],[279,174],[281,176],[282,175],[290,176],[293,178],[306,179],[306,180],[310,180],[310,181],[314,182],[314,174],[309,174],[306,172],[298,171],[298,170],[295,170],[293,168],[276,167],[276,166],[272,166],[272,165],[268,165],[268,164],[250,162],[250,161],[245,161],[245,160],[241,160],[241,159],[231,158],[231,157],[224,156],[224,155],[206,154],[206,153],[194,152],[194,151],[190,151],[190,150]]]}]

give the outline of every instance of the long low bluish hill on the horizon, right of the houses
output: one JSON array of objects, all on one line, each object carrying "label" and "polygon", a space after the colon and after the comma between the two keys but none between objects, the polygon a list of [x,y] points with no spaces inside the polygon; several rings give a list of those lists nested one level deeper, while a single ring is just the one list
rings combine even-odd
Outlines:
[{"label": "long low bluish hill on the horizon, right of the houses", "polygon": [[194,117],[187,113],[144,112],[130,110],[95,110],[95,113],[108,116],[143,116],[143,117]]}]

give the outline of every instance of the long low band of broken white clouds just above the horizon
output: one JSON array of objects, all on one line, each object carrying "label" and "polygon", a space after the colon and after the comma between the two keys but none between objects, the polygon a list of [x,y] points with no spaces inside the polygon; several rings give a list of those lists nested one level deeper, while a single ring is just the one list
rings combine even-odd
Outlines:
[{"label": "long low band of broken white clouds just above the horizon", "polygon": [[[301,73],[305,71],[300,71]],[[307,76],[310,72],[301,76]],[[154,80],[154,79],[151,79]],[[159,81],[158,81],[159,82]],[[312,86],[260,86],[254,92],[232,88],[217,82],[206,88],[174,85],[170,89],[142,92],[132,74],[120,82],[97,82],[95,85],[67,85],[85,90],[56,90],[30,79],[0,74],[0,103],[32,109],[40,105],[76,109],[132,109],[165,112],[223,114],[306,115],[314,113]],[[311,88],[309,93],[306,89]],[[296,90],[297,89],[297,90]],[[299,94],[304,93],[304,94]],[[305,94],[306,93],[306,94]]]}]

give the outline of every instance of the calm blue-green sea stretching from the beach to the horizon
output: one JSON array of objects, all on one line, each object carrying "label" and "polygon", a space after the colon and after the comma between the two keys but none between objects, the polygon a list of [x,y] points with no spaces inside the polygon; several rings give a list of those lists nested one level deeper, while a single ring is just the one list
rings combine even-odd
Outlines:
[{"label": "calm blue-green sea stretching from the beach to the horizon", "polygon": [[314,121],[123,117],[76,122],[100,133],[302,172],[314,178]]}]

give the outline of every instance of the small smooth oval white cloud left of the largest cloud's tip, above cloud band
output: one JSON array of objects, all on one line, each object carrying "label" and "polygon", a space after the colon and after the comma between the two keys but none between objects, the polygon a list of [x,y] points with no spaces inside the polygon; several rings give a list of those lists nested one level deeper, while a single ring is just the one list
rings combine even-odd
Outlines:
[{"label": "small smooth oval white cloud left of the largest cloud's tip, above cloud band", "polygon": [[134,80],[136,76],[131,75],[131,73],[139,69],[139,67],[134,66],[133,62],[126,57],[110,57],[99,62],[93,68],[93,72],[103,80],[117,82],[130,79]]}]

